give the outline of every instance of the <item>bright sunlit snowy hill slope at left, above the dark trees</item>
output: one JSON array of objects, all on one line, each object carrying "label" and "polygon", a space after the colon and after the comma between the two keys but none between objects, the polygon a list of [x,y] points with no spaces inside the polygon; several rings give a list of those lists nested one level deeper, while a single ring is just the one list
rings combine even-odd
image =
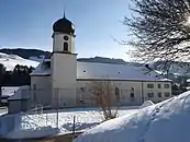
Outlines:
[{"label": "bright sunlit snowy hill slope at left, above the dark trees", "polygon": [[0,63],[2,63],[5,67],[7,71],[10,71],[13,70],[16,64],[27,66],[27,67],[32,66],[35,68],[40,62],[24,59],[16,55],[7,55],[0,52]]}]

